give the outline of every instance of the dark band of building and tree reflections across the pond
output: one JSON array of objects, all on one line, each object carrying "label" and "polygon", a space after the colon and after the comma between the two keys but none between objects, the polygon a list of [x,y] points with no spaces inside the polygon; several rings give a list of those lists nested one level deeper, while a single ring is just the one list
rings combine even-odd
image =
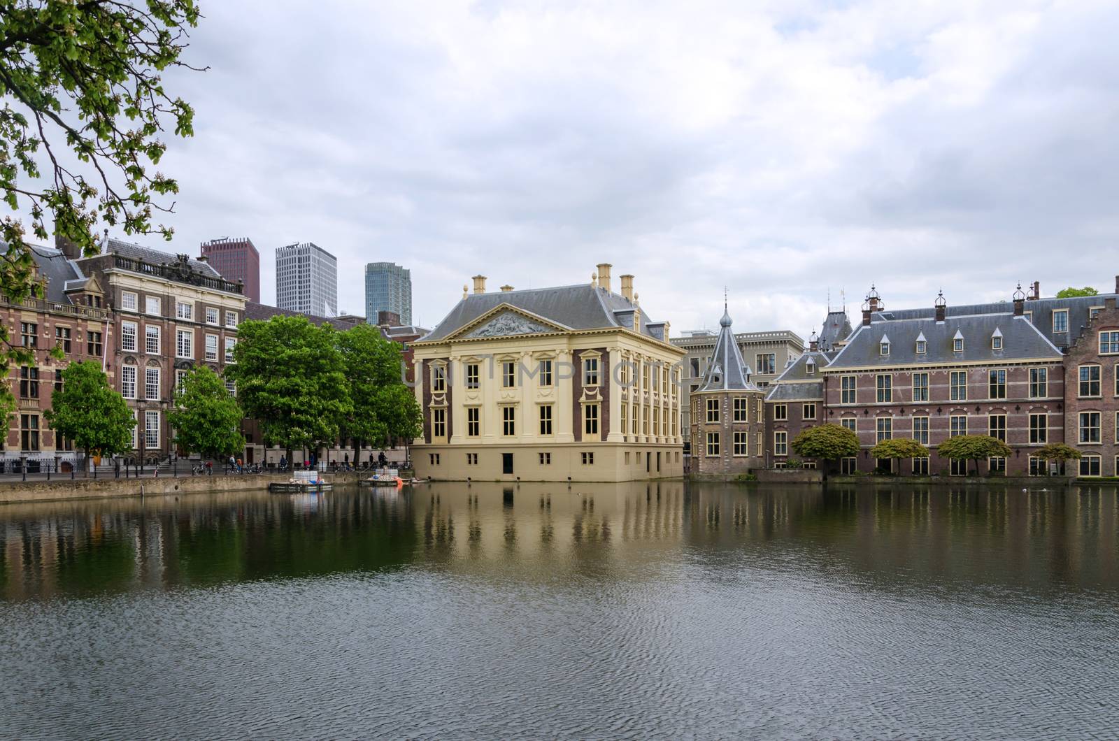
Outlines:
[{"label": "dark band of building and tree reflections across the pond", "polygon": [[764,569],[859,589],[1116,589],[1119,494],[681,481],[8,505],[0,597],[83,595],[419,566],[478,578]]}]

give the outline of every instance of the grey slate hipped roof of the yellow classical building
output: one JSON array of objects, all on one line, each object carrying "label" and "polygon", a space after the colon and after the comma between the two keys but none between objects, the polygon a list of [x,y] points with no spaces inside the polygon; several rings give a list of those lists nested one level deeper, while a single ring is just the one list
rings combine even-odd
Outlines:
[{"label": "grey slate hipped roof of the yellow classical building", "polygon": [[[543,317],[565,329],[605,329],[633,326],[632,312],[639,307],[629,299],[606,289],[583,283],[556,288],[471,293],[459,301],[443,320],[420,341],[445,339],[490,310],[507,303]],[[629,322],[624,321],[629,318]],[[649,329],[641,312],[641,334],[660,339]]]}]

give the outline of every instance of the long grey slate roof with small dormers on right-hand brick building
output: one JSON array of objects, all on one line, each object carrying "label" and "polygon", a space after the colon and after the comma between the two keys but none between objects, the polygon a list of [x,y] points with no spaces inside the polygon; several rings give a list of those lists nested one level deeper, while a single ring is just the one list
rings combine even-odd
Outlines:
[{"label": "long grey slate roof with small dormers on right-hand brick building", "polygon": [[[881,316],[881,315],[876,315]],[[1003,334],[1003,349],[991,349],[991,335]],[[878,353],[888,332],[890,355]],[[952,338],[963,336],[963,350],[952,350]],[[918,355],[916,337],[923,334],[925,353]],[[925,365],[929,363],[997,363],[1025,358],[1060,358],[1061,350],[1025,317],[1010,312],[970,317],[947,317],[943,322],[928,319],[872,320],[859,326],[839,350],[828,369]]]}]

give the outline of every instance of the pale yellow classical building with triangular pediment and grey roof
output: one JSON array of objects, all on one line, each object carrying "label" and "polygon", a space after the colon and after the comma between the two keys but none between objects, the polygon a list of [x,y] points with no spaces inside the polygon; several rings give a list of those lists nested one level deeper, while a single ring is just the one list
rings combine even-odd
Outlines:
[{"label": "pale yellow classical building with triangular pediment and grey roof", "polygon": [[683,475],[680,358],[633,276],[473,293],[412,345],[424,437],[416,476],[629,481]]}]

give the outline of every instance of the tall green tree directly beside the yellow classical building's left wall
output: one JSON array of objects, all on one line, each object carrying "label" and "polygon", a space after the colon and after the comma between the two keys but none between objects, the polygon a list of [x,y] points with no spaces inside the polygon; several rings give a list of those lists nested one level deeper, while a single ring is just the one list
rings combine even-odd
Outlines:
[{"label": "tall green tree directly beside the yellow classical building's left wall", "polygon": [[363,444],[387,447],[393,440],[411,442],[419,437],[423,415],[415,394],[401,379],[401,346],[372,325],[358,325],[337,337],[352,404],[341,432],[352,441],[354,462]]}]

